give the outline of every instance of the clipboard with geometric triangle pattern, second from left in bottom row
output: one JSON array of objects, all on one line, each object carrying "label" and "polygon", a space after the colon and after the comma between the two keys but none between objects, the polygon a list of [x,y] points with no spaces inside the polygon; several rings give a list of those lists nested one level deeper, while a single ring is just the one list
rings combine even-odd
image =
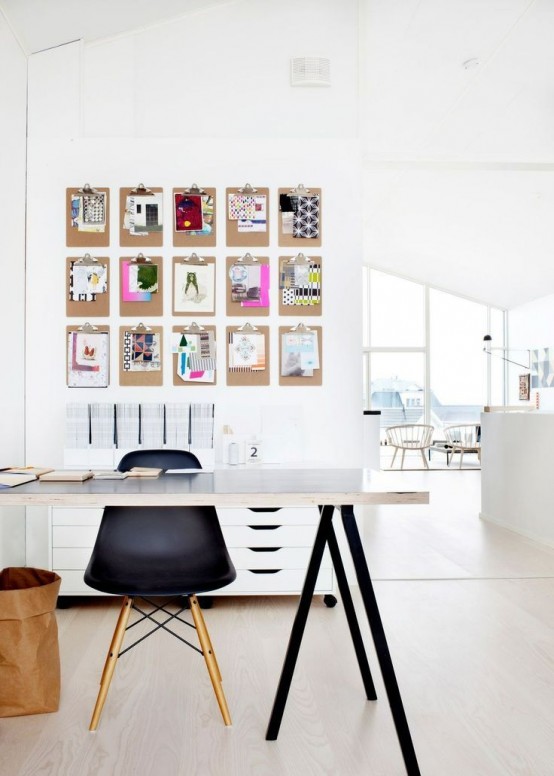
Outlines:
[{"label": "clipboard with geometric triangle pattern, second from left in bottom row", "polygon": [[[153,363],[159,368],[133,369],[133,363]],[[119,384],[163,385],[163,328],[161,326],[119,327]]]}]

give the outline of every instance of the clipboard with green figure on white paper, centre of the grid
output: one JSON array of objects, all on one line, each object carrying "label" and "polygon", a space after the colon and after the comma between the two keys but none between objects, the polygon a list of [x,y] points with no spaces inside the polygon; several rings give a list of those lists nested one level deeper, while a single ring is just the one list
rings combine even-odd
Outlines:
[{"label": "clipboard with green figure on white paper, centre of the grid", "polygon": [[215,260],[196,254],[173,264],[173,313],[215,314]]}]

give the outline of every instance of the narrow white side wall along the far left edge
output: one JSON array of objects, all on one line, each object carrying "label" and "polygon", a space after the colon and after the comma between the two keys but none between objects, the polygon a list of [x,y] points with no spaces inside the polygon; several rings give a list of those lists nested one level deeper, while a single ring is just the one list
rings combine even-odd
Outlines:
[{"label": "narrow white side wall along the far left edge", "polygon": [[[0,466],[24,463],[25,123],[27,61],[0,10]],[[2,510],[0,567],[22,562],[20,510]]]}]

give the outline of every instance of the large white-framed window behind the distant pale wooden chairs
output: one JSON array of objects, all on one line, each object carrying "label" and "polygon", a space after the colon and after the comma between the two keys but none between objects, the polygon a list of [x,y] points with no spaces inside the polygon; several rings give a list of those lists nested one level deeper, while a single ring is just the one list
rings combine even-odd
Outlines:
[{"label": "large white-framed window behind the distant pale wooden chairs", "polygon": [[502,310],[369,267],[364,284],[364,405],[383,427],[440,431],[502,403],[503,371],[483,352],[485,334],[504,344]]}]

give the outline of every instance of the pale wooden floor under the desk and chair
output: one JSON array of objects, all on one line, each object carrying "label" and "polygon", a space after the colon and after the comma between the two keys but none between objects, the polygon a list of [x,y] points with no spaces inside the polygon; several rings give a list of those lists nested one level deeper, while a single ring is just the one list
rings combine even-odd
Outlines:
[{"label": "pale wooden floor under the desk and chair", "polygon": [[[428,487],[431,505],[368,509],[364,534],[422,774],[552,776],[554,549],[479,519],[478,471],[401,476]],[[116,608],[91,599],[58,612],[60,711],[0,720],[1,776],[405,773],[379,671],[368,702],[342,607],[320,599],[278,741],[264,735],[287,598],[220,599],[205,612],[233,727],[202,658],[162,634],[121,658],[89,733]]]}]

